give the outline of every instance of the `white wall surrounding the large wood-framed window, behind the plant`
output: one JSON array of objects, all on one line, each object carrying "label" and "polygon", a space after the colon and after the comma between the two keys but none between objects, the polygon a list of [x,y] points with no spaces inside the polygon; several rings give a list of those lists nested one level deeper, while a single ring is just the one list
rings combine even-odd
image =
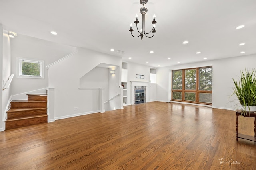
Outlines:
[{"label": "white wall surrounding the large wood-framed window, behind the plant", "polygon": [[240,70],[255,68],[256,54],[157,68],[156,100],[170,102],[171,70],[201,66],[212,66],[213,68],[212,107],[236,109],[236,106],[234,106],[234,104],[237,104],[236,97],[230,97],[233,88],[232,78],[240,76]]}]

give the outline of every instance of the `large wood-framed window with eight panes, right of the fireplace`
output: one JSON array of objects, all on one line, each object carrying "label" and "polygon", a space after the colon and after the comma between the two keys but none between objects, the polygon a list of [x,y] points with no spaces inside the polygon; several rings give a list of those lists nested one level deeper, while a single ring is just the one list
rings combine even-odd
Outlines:
[{"label": "large wood-framed window with eight panes, right of the fireplace", "polygon": [[173,70],[172,100],[212,104],[212,67]]}]

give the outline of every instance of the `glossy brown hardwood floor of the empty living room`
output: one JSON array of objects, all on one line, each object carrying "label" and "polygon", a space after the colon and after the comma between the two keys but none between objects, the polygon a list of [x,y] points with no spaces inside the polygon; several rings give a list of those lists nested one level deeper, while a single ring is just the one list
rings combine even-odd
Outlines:
[{"label": "glossy brown hardwood floor of the empty living room", "polygon": [[1,170],[255,166],[256,143],[236,141],[235,111],[202,106],[149,102],[0,132]]}]

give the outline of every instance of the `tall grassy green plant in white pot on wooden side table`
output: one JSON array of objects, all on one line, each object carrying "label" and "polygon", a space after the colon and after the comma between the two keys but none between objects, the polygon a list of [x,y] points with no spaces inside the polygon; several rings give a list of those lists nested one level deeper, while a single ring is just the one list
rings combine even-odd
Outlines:
[{"label": "tall grassy green plant in white pot on wooden side table", "polygon": [[[234,93],[241,104],[241,115],[246,116],[247,111],[256,111],[256,74],[253,70],[241,70],[240,79],[234,78]],[[254,110],[255,109],[255,110]]]}]

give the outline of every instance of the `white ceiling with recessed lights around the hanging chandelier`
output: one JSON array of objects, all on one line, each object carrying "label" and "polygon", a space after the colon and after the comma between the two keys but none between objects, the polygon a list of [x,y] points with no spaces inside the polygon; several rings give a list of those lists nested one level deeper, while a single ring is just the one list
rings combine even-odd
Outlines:
[{"label": "white ceiling with recessed lights around the hanging chandelier", "polygon": [[139,0],[0,0],[0,23],[18,34],[154,68],[256,53],[256,0],[148,0],[145,29],[156,14],[156,33],[143,40],[129,32],[135,14],[142,23],[141,6]]}]

